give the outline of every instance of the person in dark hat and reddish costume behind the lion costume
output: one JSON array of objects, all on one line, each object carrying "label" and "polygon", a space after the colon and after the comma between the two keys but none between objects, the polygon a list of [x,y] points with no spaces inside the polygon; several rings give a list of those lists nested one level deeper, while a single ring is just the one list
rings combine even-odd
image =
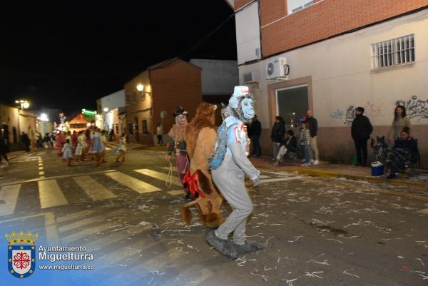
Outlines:
[{"label": "person in dark hat and reddish costume behind the lion costume", "polygon": [[[175,109],[173,116],[175,117],[175,125],[168,132],[168,136],[172,139],[166,145],[166,160],[171,162],[172,155],[175,155],[175,165],[177,167],[178,178],[183,183],[185,173],[190,170],[190,160],[188,158],[184,133],[187,125],[187,111],[182,106]],[[183,183],[185,190],[185,199],[190,199],[190,192],[187,186]]]}]

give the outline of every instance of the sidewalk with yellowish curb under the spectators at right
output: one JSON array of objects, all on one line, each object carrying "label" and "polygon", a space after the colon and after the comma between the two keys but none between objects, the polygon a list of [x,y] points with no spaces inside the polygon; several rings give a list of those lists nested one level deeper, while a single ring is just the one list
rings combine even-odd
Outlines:
[{"label": "sidewalk with yellowish curb under the spectators at right", "polygon": [[350,164],[336,164],[322,161],[320,165],[302,167],[300,161],[280,163],[272,165],[272,157],[250,158],[251,162],[258,168],[275,171],[295,172],[302,175],[312,175],[330,178],[347,178],[350,180],[365,180],[370,183],[387,183],[390,185],[404,185],[412,188],[428,190],[428,171],[417,170],[417,175],[410,178],[395,178],[388,180],[384,176],[373,177],[370,167],[356,167]]}]

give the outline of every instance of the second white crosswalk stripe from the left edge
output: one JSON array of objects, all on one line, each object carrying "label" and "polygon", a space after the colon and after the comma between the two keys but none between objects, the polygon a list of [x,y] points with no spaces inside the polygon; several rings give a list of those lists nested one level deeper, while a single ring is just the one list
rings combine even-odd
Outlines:
[{"label": "second white crosswalk stripe from the left edge", "polygon": [[39,199],[41,208],[68,205],[66,197],[56,180],[39,180]]}]

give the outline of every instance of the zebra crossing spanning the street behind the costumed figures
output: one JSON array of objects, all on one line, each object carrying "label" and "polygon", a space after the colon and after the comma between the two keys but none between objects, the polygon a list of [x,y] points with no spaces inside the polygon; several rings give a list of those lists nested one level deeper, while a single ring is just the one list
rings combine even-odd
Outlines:
[{"label": "zebra crossing spanning the street behind the costumed figures", "polygon": [[[52,178],[39,178],[17,183],[8,183],[7,185],[0,185],[0,217],[4,215],[13,215],[16,205],[19,200],[21,188],[26,183],[37,183],[38,197],[40,209],[49,209],[69,205],[67,195],[64,194],[61,182],[63,180],[71,180],[76,189],[81,191],[89,201],[97,202],[102,200],[109,200],[118,198],[121,193],[138,193],[148,194],[164,191],[168,195],[181,195],[183,194],[182,184],[177,178],[175,171],[172,177],[168,178],[165,170],[170,170],[168,167],[159,168],[161,170],[153,169],[136,169],[131,170],[129,173],[123,173],[118,170],[106,170],[101,172],[88,173],[86,175],[64,175]],[[94,175],[102,175],[106,179],[116,181],[123,188],[118,192],[118,189],[111,189],[111,186],[104,183],[105,180],[93,178]],[[144,177],[141,178],[141,175]],[[136,178],[140,177],[140,178]],[[294,177],[276,177],[275,175],[260,175],[261,183],[275,183],[285,180],[293,180]],[[150,183],[147,182],[148,179]],[[167,188],[165,182],[170,180],[174,188]]]}]

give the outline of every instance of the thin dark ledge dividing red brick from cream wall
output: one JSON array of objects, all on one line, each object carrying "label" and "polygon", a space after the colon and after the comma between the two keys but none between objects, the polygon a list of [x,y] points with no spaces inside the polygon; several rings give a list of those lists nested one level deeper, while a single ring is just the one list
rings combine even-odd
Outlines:
[{"label": "thin dark ledge dividing red brick from cream wall", "polygon": [[352,33],[356,32],[356,31],[360,31],[362,29],[370,28],[371,26],[376,26],[378,24],[382,24],[382,23],[386,23],[386,22],[389,22],[389,21],[393,21],[395,19],[399,19],[399,18],[404,17],[404,16],[409,16],[409,15],[412,15],[412,14],[416,14],[416,13],[418,13],[420,11],[424,11],[424,10],[427,10],[427,9],[428,9],[428,5],[420,7],[418,9],[414,9],[412,11],[407,11],[405,13],[389,17],[387,19],[383,19],[383,20],[380,20],[380,21],[377,21],[377,22],[373,22],[371,24],[360,26],[360,27],[355,28],[355,29],[344,31],[344,32],[342,32],[340,34],[335,34],[335,35],[329,36],[328,38],[325,38],[325,39],[321,39],[321,40],[318,40],[318,41],[313,41],[313,42],[310,42],[310,43],[307,43],[307,44],[304,44],[304,45],[296,46],[294,48],[289,48],[287,50],[278,51],[276,53],[272,53],[269,56],[263,56],[262,58],[259,58],[259,59],[256,59],[256,60],[246,61],[245,63],[238,63],[238,67],[239,66],[248,66],[248,65],[253,64],[253,63],[258,63],[259,61],[264,61],[267,58],[272,58],[274,56],[279,56],[280,54],[286,53],[287,51],[294,51],[294,50],[297,50],[297,48],[304,48],[305,46],[310,46],[310,45],[313,45],[313,44],[318,44],[318,43],[320,43],[322,41],[327,41],[327,40],[330,40],[330,39],[337,38],[338,36],[343,36],[343,35],[346,35],[346,34],[352,34]]}]

